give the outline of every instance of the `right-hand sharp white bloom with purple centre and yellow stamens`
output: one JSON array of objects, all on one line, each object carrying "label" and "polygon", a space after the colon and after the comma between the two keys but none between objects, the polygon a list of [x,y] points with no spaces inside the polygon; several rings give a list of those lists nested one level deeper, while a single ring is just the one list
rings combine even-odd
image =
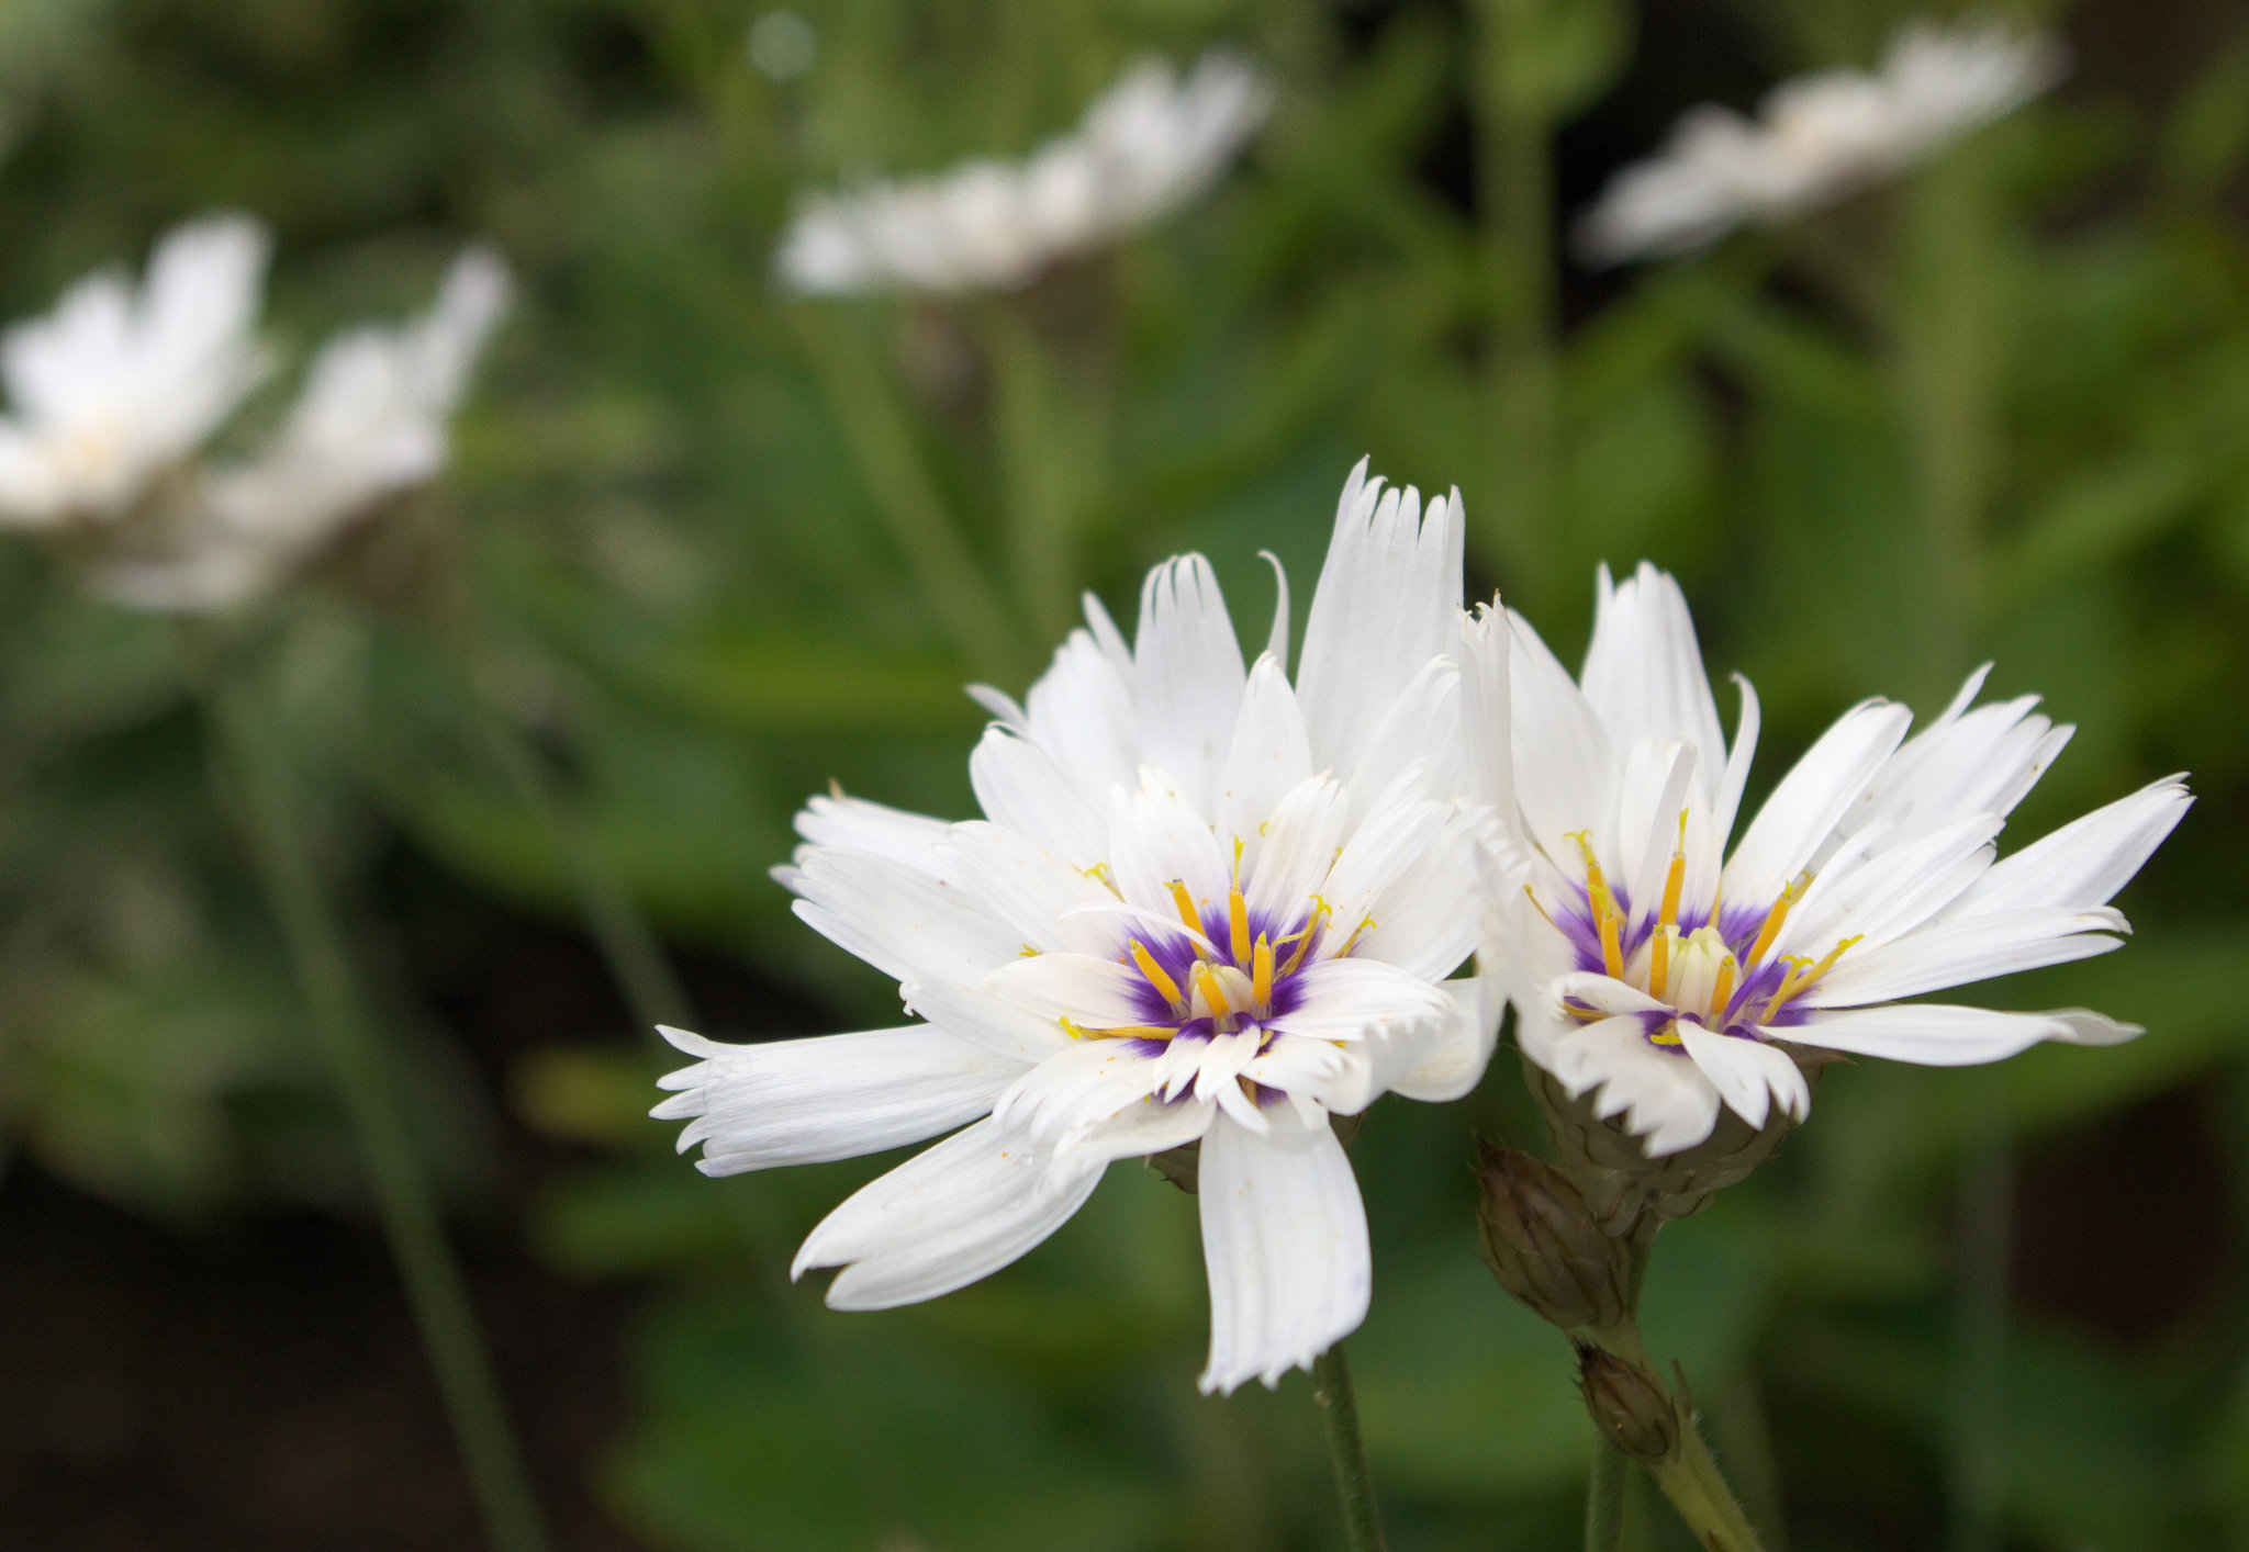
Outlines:
[{"label": "right-hand sharp white bloom with purple centre and yellow stamens", "polygon": [[[1999,859],[2006,814],[2069,740],[2038,697],[1975,706],[1979,668],[1918,736],[1885,700],[1853,706],[1781,778],[1727,852],[1756,693],[1732,747],[1678,585],[1601,571],[1586,673],[1511,628],[1516,841],[1509,999],[1532,1062],[1651,1156],[1801,1118],[1788,1046],[1932,1066],[2038,1041],[2141,1030],[2096,1012],[1997,1012],[1900,999],[2121,947],[2107,900],[2191,803],[2182,778]],[[1473,758],[1473,756],[1471,756]]]}]

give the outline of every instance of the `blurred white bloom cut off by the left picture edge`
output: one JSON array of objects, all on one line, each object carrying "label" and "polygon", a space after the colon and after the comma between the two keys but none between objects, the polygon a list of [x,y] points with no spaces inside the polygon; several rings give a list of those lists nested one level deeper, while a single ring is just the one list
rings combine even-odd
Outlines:
[{"label": "blurred white bloom cut off by the left picture edge", "polygon": [[270,243],[247,216],[180,227],[139,290],[103,270],[0,337],[0,524],[128,511],[270,369],[254,326]]}]

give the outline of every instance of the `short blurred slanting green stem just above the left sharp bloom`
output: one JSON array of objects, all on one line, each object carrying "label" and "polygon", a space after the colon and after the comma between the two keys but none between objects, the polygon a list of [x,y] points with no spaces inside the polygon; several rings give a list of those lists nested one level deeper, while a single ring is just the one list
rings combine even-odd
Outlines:
[{"label": "short blurred slanting green stem just above the left sharp bloom", "polygon": [[945,508],[945,497],[913,445],[913,427],[843,319],[816,304],[789,308],[796,337],[821,378],[837,430],[859,463],[875,511],[904,553],[922,603],[978,675],[1010,677],[1017,641],[999,596]]}]

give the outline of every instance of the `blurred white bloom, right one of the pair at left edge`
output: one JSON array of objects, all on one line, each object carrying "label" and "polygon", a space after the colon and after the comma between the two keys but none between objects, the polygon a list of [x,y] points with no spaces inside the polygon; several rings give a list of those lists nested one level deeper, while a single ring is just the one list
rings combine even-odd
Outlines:
[{"label": "blurred white bloom, right one of the pair at left edge", "polygon": [[229,610],[279,585],[385,497],[434,479],[445,423],[506,306],[506,268],[470,247],[423,317],[328,340],[272,445],[207,470],[164,526],[160,553],[106,560],[97,587],[142,610]]}]

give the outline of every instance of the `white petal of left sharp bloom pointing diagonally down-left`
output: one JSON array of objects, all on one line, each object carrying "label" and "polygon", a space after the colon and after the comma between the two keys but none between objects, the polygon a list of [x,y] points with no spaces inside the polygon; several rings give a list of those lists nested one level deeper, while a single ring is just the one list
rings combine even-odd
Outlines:
[{"label": "white petal of left sharp bloom pointing diagonally down-left", "polygon": [[830,1309],[895,1309],[985,1278],[1037,1246],[1100,1183],[1055,1170],[990,1120],[868,1181],[805,1235],[789,1278],[843,1266]]}]

